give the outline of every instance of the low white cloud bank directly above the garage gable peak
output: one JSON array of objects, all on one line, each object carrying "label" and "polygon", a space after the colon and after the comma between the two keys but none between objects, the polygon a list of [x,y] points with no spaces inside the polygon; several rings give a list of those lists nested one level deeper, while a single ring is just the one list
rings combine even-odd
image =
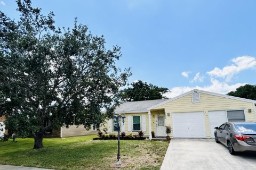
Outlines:
[{"label": "low white cloud bank directly above the garage gable peak", "polygon": [[211,79],[211,84],[209,86],[195,86],[195,87],[174,87],[171,89],[170,92],[167,92],[164,94],[164,96],[168,98],[173,98],[176,96],[179,96],[185,92],[188,92],[193,89],[199,89],[199,90],[205,90],[205,91],[211,91],[211,92],[217,92],[218,94],[227,94],[229,91],[234,91],[240,86],[244,86],[246,83],[236,83],[236,84],[227,84],[225,82],[220,82],[216,79]]}]

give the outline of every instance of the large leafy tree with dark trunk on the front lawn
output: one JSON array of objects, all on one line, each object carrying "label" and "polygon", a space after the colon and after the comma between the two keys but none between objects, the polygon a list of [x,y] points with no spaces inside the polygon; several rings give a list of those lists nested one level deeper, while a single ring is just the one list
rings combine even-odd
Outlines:
[{"label": "large leafy tree with dark trunk on the front lawn", "polygon": [[18,0],[20,20],[0,11],[0,116],[6,129],[43,147],[43,133],[63,124],[100,126],[119,104],[119,88],[130,69],[116,61],[121,49],[105,48],[103,36],[86,25],[56,28],[54,14],[41,14],[30,0]]}]

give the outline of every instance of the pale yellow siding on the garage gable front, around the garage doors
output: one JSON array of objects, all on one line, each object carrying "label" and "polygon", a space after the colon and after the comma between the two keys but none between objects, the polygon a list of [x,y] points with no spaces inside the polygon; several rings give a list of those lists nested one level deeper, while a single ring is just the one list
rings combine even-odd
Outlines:
[{"label": "pale yellow siding on the garage gable front, around the garage doors", "polygon": [[[203,93],[199,94],[201,97],[201,103],[192,103],[191,94],[188,94],[154,109],[165,108],[165,112],[170,113],[170,116],[167,116],[166,118],[166,124],[170,126],[172,126],[172,113],[203,111],[205,114],[205,128],[207,138],[210,138],[208,111],[244,109],[246,121],[255,121],[255,109],[252,103]],[[248,112],[249,109],[252,109],[251,113]],[[171,137],[173,137],[172,133]]]}]

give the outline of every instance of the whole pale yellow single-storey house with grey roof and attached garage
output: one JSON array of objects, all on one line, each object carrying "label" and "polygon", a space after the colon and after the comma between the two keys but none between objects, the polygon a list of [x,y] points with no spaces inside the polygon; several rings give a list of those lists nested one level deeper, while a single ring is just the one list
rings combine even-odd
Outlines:
[{"label": "whole pale yellow single-storey house with grey roof and attached garage", "polygon": [[[125,114],[121,132],[146,137],[165,137],[165,126],[171,126],[171,138],[214,138],[214,127],[224,122],[256,121],[256,100],[221,95],[203,90],[191,90],[172,99],[131,101],[116,108],[116,114]],[[100,130],[116,133],[113,120]]]}]

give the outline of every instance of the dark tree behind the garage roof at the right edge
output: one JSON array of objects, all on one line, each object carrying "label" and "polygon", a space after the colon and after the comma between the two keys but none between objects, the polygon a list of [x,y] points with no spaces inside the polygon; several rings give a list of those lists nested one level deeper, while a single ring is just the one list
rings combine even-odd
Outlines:
[{"label": "dark tree behind the garage roof at the right edge", "polygon": [[256,85],[245,84],[238,87],[235,91],[228,92],[227,95],[256,100]]}]

